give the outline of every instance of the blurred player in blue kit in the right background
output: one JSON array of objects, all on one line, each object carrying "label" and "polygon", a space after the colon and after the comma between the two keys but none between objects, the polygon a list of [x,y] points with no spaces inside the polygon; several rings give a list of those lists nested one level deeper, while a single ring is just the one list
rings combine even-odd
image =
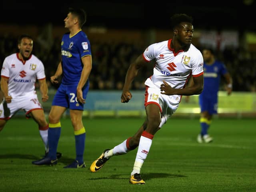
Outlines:
[{"label": "blurred player in blue kit in the right background", "polygon": [[232,92],[232,78],[224,63],[216,60],[212,48],[203,48],[202,55],[204,58],[204,90],[199,95],[201,132],[197,136],[197,141],[198,143],[210,143],[213,138],[208,134],[208,129],[213,114],[217,114],[221,77],[224,77],[226,81],[228,95]]}]

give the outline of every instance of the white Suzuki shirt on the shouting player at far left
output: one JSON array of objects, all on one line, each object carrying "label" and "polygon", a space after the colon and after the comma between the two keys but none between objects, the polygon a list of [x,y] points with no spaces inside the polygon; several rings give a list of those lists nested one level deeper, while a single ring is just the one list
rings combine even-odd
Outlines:
[{"label": "white Suzuki shirt on the shouting player at far left", "polygon": [[36,79],[45,78],[44,65],[33,54],[23,63],[14,53],[4,59],[1,77],[8,78],[8,94],[12,98],[34,94]]}]

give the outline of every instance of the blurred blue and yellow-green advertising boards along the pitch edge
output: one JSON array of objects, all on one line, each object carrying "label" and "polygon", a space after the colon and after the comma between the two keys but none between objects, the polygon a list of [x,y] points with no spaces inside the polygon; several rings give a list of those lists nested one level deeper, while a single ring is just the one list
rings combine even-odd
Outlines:
[{"label": "blurred blue and yellow-green advertising boards along the pitch edge", "polygon": [[[46,114],[50,111],[51,102],[56,90],[49,90],[48,102],[42,103]],[[38,91],[39,93],[39,91]],[[84,116],[93,118],[96,116],[136,116],[144,117],[144,91],[131,91],[132,100],[128,103],[121,103],[121,90],[102,91],[90,90],[86,98]],[[194,118],[200,115],[198,95],[190,96],[189,102],[182,97],[175,117],[186,116]],[[40,98],[40,94],[38,94]],[[256,94],[253,92],[232,92],[227,96],[225,91],[218,92],[218,117],[256,117]],[[68,111],[65,116],[68,116]]]}]

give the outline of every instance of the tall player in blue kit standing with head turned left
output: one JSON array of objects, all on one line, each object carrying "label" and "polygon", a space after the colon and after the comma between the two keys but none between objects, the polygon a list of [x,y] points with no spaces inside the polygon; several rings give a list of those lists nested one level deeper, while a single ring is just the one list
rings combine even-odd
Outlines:
[{"label": "tall player in blue kit standing with head turned left", "polygon": [[61,84],[52,101],[49,114],[49,153],[48,156],[34,161],[36,165],[57,164],[56,151],[60,138],[60,119],[66,109],[70,109],[70,119],[74,128],[76,159],[64,168],[83,168],[86,130],[82,122],[82,114],[86,95],[89,90],[89,74],[92,69],[90,42],[82,31],[86,22],[86,12],[82,9],[70,8],[64,19],[65,28],[70,32],[62,37],[62,60],[51,77],[52,83],[58,83],[62,75]]}]

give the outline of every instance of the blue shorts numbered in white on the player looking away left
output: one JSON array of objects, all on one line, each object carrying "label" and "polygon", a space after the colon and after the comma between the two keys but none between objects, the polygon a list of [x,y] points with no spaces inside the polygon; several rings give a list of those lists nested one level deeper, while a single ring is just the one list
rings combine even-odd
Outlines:
[{"label": "blue shorts numbered in white on the player looking away left", "polygon": [[[60,84],[53,101],[52,105],[62,106],[72,110],[84,110],[84,104],[79,103],[76,98],[77,85],[63,85]],[[86,96],[89,90],[89,82],[86,83],[82,89],[83,98],[86,100]]]}]

